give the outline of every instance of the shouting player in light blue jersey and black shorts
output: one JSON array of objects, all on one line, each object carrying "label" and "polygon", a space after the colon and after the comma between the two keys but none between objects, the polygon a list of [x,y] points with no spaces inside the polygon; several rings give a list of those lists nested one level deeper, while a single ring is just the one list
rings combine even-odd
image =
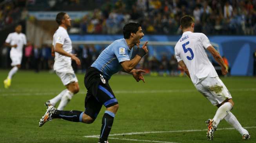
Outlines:
[{"label": "shouting player in light blue jersey and black shorts", "polygon": [[[124,39],[118,39],[109,45],[99,55],[98,59],[91,65],[85,74],[85,87],[87,95],[85,98],[85,112],[82,111],[60,111],[53,106],[48,107],[45,115],[40,120],[39,126],[53,118],[62,118],[72,122],[93,123],[102,105],[107,110],[102,118],[100,143],[107,143],[115,114],[118,110],[118,101],[108,84],[114,73],[122,70],[133,75],[138,82],[143,80],[143,70],[135,70],[134,67],[148,52],[147,42],[139,48],[140,39],[144,36],[139,23],[128,23],[123,27]],[[133,46],[138,48],[134,58],[131,58]],[[134,49],[134,48],[133,48]]]}]

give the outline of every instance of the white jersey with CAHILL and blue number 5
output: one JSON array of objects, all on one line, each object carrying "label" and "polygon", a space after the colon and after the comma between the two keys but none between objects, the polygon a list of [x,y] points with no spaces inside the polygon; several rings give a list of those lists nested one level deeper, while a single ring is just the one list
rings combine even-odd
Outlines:
[{"label": "white jersey with CAHILL and blue number 5", "polygon": [[190,31],[184,32],[175,45],[176,59],[186,64],[193,84],[205,77],[218,77],[205,51],[209,46],[211,43],[205,34]]}]

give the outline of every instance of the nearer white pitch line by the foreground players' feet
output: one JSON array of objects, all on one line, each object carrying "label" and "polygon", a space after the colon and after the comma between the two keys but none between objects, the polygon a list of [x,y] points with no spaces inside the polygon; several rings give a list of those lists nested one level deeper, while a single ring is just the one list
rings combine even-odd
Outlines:
[{"label": "nearer white pitch line by the foreground players' feet", "polygon": [[[256,126],[252,127],[244,127],[245,129],[256,128]],[[123,135],[134,135],[134,134],[156,134],[156,133],[171,133],[171,132],[201,132],[206,131],[207,129],[201,130],[170,130],[170,131],[153,131],[153,132],[128,132],[128,133],[121,133],[121,134],[109,134],[109,136],[123,136]],[[218,130],[234,130],[234,128],[218,128]],[[84,136],[85,138],[99,138],[99,135],[91,135],[91,136]]]}]

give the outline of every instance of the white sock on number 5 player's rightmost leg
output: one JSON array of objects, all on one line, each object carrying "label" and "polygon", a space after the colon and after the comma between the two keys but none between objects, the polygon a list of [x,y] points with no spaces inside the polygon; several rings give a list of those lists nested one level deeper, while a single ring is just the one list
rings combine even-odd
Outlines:
[{"label": "white sock on number 5 player's rightmost leg", "polygon": [[230,125],[232,125],[236,130],[238,130],[238,132],[240,132],[241,135],[249,134],[249,132],[241,126],[241,124],[238,122],[234,114],[232,114],[231,112],[229,112],[229,114],[225,117],[225,120]]}]

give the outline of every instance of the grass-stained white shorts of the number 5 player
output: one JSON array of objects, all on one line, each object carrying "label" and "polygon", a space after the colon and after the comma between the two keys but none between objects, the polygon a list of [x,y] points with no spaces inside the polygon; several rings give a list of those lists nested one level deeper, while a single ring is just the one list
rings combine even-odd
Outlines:
[{"label": "grass-stained white shorts of the number 5 player", "polygon": [[228,89],[219,77],[206,77],[198,82],[195,87],[214,106],[221,104],[226,99],[232,98]]}]

